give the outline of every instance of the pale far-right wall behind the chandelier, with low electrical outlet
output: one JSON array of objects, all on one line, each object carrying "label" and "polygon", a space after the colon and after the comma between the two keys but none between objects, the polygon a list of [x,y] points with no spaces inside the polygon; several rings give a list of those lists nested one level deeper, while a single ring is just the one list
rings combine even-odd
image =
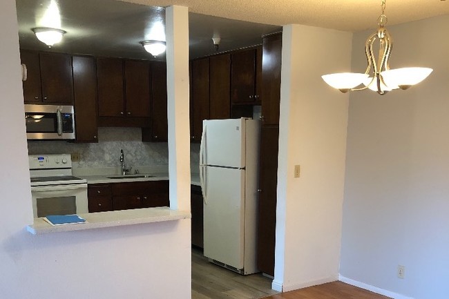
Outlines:
[{"label": "pale far-right wall behind the chandelier, with low electrical outlet", "polygon": [[[395,298],[449,298],[449,16],[388,26],[392,68],[434,72],[410,90],[350,95],[341,275]],[[364,70],[354,35],[353,70]],[[405,279],[397,278],[397,265]],[[402,295],[402,296],[401,296]]]}]

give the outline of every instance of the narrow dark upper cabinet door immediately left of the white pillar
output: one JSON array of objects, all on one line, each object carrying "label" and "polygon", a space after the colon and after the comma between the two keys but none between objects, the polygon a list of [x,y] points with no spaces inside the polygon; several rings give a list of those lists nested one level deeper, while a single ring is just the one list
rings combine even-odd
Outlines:
[{"label": "narrow dark upper cabinet door immediately left of the white pillar", "polygon": [[166,95],[166,63],[151,62],[151,95],[153,104],[153,137],[155,142],[166,142],[168,139],[167,95]]}]

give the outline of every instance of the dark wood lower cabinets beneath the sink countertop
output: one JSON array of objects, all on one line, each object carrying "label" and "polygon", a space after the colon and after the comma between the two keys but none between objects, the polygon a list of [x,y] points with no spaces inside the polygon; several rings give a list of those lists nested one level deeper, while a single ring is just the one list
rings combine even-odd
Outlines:
[{"label": "dark wood lower cabinets beneath the sink countertop", "polygon": [[170,206],[169,181],[88,185],[89,213]]}]

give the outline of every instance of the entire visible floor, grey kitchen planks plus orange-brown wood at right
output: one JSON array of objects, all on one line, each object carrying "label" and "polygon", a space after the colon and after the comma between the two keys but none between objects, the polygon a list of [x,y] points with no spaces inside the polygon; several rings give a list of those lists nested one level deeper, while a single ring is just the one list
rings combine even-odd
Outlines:
[{"label": "entire visible floor, grey kitchen planks plus orange-brown wood at right", "polygon": [[202,251],[192,249],[192,299],[388,299],[344,282],[329,282],[279,293],[260,273],[241,276],[212,264]]}]

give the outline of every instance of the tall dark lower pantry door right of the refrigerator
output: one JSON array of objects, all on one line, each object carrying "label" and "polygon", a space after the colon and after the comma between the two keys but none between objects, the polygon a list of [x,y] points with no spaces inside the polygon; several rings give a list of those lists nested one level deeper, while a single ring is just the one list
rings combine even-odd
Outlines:
[{"label": "tall dark lower pantry door right of the refrigerator", "polygon": [[274,276],[274,247],[276,242],[278,139],[278,126],[262,126],[260,135],[257,265],[260,271],[271,276]]}]

